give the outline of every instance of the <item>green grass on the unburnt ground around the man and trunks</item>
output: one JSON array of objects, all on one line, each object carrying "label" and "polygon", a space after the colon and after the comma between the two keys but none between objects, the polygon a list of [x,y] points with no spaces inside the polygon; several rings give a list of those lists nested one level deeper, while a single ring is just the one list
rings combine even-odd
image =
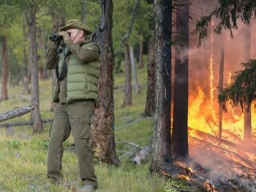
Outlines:
[{"label": "green grass on the unburnt ground around the man and trunks", "polygon": [[[115,139],[119,142],[134,142],[139,146],[146,146],[153,137],[154,120],[146,119],[125,126],[138,118],[143,118],[146,102],[146,68],[138,70],[138,82],[141,86],[140,94],[133,93],[133,105],[122,107],[124,98],[122,89],[114,90]],[[124,74],[114,75],[114,86],[122,86]],[[42,118],[52,118],[50,112],[51,81],[40,81],[40,110]],[[30,104],[30,94],[22,93],[22,86],[10,87],[10,99],[0,102],[0,113]],[[28,121],[30,114],[14,118],[8,122]],[[6,123],[6,122],[3,122]],[[46,157],[48,147],[48,132],[50,123],[44,124],[42,134],[32,134],[31,126],[19,126],[0,129],[0,191],[71,191],[64,185],[50,185],[46,178]],[[78,188],[82,186],[78,174],[76,155],[67,150],[73,143],[70,137],[66,142],[63,156],[62,174],[66,182]],[[123,146],[117,145],[117,149]],[[120,154],[118,154],[120,155]],[[158,175],[150,176],[149,164],[136,166],[127,159],[120,167],[109,166],[95,162],[95,172],[98,177],[98,192],[117,191],[166,191],[166,182]]]}]

